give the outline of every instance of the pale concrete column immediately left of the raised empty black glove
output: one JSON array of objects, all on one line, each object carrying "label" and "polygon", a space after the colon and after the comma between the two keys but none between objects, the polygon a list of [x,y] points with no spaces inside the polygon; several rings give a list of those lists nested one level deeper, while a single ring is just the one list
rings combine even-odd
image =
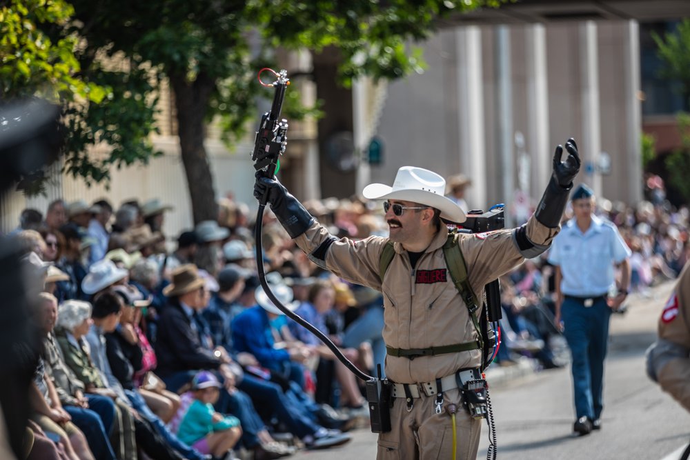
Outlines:
[{"label": "pale concrete column immediately left of the raised empty black glove", "polygon": [[532,167],[529,193],[534,199],[540,199],[551,177],[553,154],[553,146],[549,145],[549,79],[544,25],[527,26],[525,41],[528,123],[526,149]]}]

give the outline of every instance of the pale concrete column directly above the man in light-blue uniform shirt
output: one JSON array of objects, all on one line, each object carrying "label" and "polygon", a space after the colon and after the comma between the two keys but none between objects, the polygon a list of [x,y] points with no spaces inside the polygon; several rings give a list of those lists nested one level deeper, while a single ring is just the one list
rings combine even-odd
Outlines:
[{"label": "pale concrete column directly above the man in light-blue uniform shirt", "polygon": [[580,24],[580,98],[582,105],[582,142],[578,150],[582,158],[580,177],[593,188],[595,194],[602,193],[602,177],[596,172],[601,152],[601,117],[599,110],[599,56],[597,26],[594,21]]}]

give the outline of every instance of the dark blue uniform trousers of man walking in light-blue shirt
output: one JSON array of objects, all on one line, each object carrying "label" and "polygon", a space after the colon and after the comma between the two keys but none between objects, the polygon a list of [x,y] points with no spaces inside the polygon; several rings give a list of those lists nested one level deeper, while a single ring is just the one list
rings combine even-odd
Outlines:
[{"label": "dark blue uniform trousers of man walking in light-blue shirt", "polygon": [[578,419],[601,417],[604,383],[604,358],[609,337],[611,309],[606,297],[591,307],[584,301],[565,297],[561,306],[564,336],[573,355],[573,396]]}]

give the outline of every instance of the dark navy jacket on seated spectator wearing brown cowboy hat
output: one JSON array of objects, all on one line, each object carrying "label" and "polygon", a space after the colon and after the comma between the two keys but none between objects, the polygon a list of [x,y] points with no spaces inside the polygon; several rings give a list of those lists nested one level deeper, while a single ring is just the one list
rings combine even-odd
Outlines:
[{"label": "dark navy jacket on seated spectator wearing brown cowboy hat", "polygon": [[177,299],[163,308],[158,322],[156,373],[166,377],[174,372],[197,369],[217,369],[221,361],[213,350],[204,348],[196,326],[193,328]]}]

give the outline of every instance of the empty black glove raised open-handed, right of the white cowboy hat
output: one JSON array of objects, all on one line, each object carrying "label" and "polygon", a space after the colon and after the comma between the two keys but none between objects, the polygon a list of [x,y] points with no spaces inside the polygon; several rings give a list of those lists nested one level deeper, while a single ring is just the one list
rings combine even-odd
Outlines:
[{"label": "empty black glove raised open-handed, right of the white cowboy hat", "polygon": [[568,203],[568,192],[573,188],[573,179],[580,172],[580,155],[575,139],[568,139],[565,148],[568,151],[568,157],[565,161],[561,161],[563,147],[556,147],[553,154],[551,180],[544,190],[537,210],[534,212],[534,217],[549,228],[556,228],[560,225],[563,210]]}]

